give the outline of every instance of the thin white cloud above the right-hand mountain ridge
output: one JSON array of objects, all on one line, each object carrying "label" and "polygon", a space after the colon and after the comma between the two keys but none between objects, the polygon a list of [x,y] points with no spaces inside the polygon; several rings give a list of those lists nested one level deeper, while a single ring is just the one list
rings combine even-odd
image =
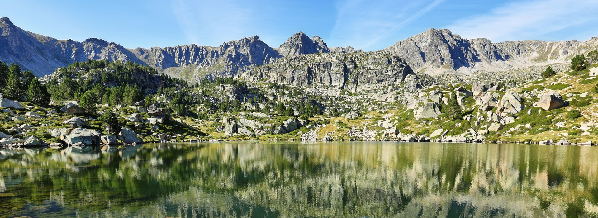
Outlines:
[{"label": "thin white cloud above the right-hand mountain ridge", "polygon": [[[579,29],[592,27],[598,21],[596,10],[596,0],[514,2],[495,8],[488,14],[456,20],[447,28],[464,38],[489,38],[492,41],[543,39],[543,35],[575,26]],[[572,31],[570,36],[579,29]],[[567,35],[566,32],[559,33],[563,34]]]}]

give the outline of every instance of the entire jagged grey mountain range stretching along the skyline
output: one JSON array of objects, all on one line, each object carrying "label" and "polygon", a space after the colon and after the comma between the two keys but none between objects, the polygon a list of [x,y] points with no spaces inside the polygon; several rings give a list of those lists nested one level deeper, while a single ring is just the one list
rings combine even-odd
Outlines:
[{"label": "entire jagged grey mountain range stretching along the skyline", "polygon": [[[328,47],[319,36],[295,33],[279,47],[270,47],[258,36],[225,42],[219,47],[181,45],[176,47],[124,48],[115,42],[90,38],[83,42],[59,40],[28,32],[7,17],[0,19],[0,61],[16,63],[43,76],[75,61],[121,60],[155,67],[158,72],[200,81],[203,78],[234,76],[252,66],[267,65],[285,56],[317,53],[361,53],[352,47]],[[598,38],[588,41],[508,41],[464,39],[447,29],[429,29],[398,41],[383,52],[399,56],[414,72],[438,75],[443,72],[471,73],[502,71],[530,66],[565,63],[578,53],[598,48]]]}]

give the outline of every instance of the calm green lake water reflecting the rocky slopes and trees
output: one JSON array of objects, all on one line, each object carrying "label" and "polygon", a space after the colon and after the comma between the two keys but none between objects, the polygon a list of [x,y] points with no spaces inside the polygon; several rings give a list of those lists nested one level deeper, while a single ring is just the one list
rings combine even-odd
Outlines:
[{"label": "calm green lake water reflecting the rocky slopes and trees", "polygon": [[598,217],[598,148],[162,143],[0,150],[0,217]]}]

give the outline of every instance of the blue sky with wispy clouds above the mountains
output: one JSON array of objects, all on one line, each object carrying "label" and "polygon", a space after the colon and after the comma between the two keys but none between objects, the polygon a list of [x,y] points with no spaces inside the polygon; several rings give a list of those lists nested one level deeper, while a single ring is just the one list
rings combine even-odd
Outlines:
[{"label": "blue sky with wispy clouds above the mountains", "polygon": [[5,1],[0,17],[57,39],[101,38],[126,48],[218,46],[260,36],[278,47],[318,35],[329,47],[379,50],[429,28],[463,38],[585,41],[598,36],[596,0],[130,0]]}]

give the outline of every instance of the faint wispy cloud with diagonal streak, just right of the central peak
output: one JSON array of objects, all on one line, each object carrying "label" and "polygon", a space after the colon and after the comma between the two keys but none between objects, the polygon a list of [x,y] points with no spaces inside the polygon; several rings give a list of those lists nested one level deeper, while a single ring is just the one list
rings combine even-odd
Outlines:
[{"label": "faint wispy cloud with diagonal streak, just right of the central peak", "polygon": [[376,4],[362,0],[341,1],[337,5],[337,20],[331,38],[339,45],[371,50],[444,1],[383,0]]}]

